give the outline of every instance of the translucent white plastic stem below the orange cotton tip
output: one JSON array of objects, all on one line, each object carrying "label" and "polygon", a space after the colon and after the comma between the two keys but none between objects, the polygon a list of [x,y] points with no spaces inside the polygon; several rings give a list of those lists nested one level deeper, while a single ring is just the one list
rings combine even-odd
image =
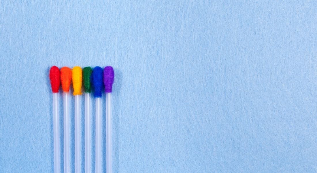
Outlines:
[{"label": "translucent white plastic stem below the orange cotton tip", "polygon": [[64,172],[70,173],[69,93],[64,92]]}]

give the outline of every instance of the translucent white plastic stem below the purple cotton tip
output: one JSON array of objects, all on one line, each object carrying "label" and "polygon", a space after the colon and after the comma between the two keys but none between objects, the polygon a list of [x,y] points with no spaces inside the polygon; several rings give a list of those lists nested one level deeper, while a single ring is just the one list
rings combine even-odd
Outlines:
[{"label": "translucent white plastic stem below the purple cotton tip", "polygon": [[112,173],[112,127],[111,127],[111,93],[106,93],[106,164],[107,173]]}]

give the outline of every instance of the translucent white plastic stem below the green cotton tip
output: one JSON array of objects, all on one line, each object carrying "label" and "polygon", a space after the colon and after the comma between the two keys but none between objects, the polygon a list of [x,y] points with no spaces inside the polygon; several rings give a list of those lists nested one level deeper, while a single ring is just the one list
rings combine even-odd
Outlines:
[{"label": "translucent white plastic stem below the green cotton tip", "polygon": [[90,94],[85,93],[85,173],[91,173]]}]

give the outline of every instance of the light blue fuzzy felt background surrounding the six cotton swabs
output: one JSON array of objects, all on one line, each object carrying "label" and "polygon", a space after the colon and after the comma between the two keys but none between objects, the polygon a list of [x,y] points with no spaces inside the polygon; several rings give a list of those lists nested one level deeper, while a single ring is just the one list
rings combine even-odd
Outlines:
[{"label": "light blue fuzzy felt background surrounding the six cotton swabs", "polygon": [[53,172],[52,65],[114,67],[116,172],[316,172],[316,14],[302,0],[0,1],[0,172]]}]

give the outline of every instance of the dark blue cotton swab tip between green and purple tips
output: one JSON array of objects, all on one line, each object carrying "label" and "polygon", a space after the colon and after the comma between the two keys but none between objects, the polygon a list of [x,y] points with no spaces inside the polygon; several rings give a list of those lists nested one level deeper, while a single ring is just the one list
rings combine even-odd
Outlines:
[{"label": "dark blue cotton swab tip between green and purple tips", "polygon": [[101,91],[103,87],[103,74],[102,74],[102,68],[101,67],[95,67],[93,69],[93,72],[91,74],[91,81],[92,85],[94,87],[94,97],[101,97]]}]

